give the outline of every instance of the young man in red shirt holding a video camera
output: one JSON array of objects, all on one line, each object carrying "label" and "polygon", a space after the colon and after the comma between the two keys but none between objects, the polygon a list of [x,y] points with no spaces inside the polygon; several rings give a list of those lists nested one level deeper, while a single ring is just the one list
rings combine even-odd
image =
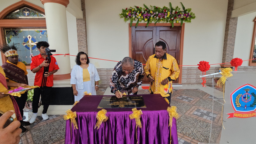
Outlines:
[{"label": "young man in red shirt holding a video camera", "polygon": [[[50,91],[53,86],[53,74],[58,71],[59,66],[56,59],[53,56],[51,57],[51,62],[45,60],[47,54],[45,49],[48,49],[49,44],[45,41],[38,42],[36,44],[39,55],[32,57],[30,70],[33,73],[36,73],[34,85],[40,86],[40,88],[34,89],[34,97],[32,102],[33,115],[29,123],[32,124],[36,120],[38,103],[41,94],[41,101],[44,105],[44,110],[42,112],[42,117],[44,120],[48,119],[46,112],[50,104]],[[49,49],[48,49],[49,50]],[[48,67],[48,72],[44,72],[45,67]],[[43,84],[43,81],[46,80],[46,84]]]}]

